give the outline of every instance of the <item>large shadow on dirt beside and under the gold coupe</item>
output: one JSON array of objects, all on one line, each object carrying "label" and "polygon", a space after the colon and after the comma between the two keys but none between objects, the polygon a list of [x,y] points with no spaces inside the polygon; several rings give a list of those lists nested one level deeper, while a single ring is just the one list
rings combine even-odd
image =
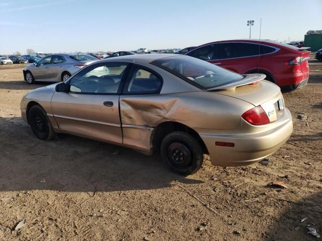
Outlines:
[{"label": "large shadow on dirt beside and under the gold coupe", "polygon": [[202,183],[171,172],[159,155],[70,135],[41,141],[20,117],[0,117],[0,191],[144,190]]}]

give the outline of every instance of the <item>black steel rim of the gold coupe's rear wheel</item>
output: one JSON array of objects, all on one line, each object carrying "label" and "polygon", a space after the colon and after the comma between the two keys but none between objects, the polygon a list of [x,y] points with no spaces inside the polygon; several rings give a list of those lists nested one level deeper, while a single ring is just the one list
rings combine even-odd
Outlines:
[{"label": "black steel rim of the gold coupe's rear wheel", "polygon": [[192,153],[189,148],[179,142],[174,142],[168,146],[167,156],[171,164],[177,168],[187,168],[192,162]]}]

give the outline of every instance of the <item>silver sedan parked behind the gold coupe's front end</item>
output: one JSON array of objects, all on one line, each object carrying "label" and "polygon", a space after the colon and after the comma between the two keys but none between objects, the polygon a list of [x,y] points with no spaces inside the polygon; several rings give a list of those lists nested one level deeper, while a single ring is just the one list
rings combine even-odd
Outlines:
[{"label": "silver sedan parked behind the gold coupe's front end", "polygon": [[35,81],[65,81],[79,69],[98,61],[88,54],[52,54],[42,58],[37,63],[24,68],[24,78],[27,83]]}]

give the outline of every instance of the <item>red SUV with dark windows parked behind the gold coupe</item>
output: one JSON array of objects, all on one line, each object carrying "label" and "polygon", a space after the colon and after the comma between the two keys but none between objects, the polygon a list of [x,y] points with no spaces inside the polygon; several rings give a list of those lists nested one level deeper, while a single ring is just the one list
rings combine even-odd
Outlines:
[{"label": "red SUV with dark windows parked behind the gold coupe", "polygon": [[201,45],[185,55],[239,74],[263,73],[280,87],[302,87],[308,80],[307,48],[270,40],[227,40]]}]

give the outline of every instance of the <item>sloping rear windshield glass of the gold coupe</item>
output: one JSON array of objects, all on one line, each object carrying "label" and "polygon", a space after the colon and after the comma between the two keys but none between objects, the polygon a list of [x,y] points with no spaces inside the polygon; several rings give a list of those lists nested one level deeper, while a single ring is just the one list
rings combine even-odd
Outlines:
[{"label": "sloping rear windshield glass of the gold coupe", "polygon": [[160,68],[201,88],[210,89],[229,84],[244,76],[190,56],[173,56],[151,62]]}]

